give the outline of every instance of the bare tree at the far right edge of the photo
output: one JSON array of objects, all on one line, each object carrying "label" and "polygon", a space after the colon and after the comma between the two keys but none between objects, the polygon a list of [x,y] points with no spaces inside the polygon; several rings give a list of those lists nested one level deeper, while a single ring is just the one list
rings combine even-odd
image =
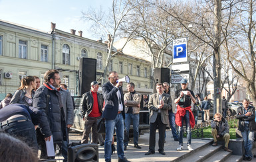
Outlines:
[{"label": "bare tree at the far right edge of the photo", "polygon": [[[241,12],[235,23],[237,24],[237,35],[231,43],[225,42],[225,46],[229,47],[227,48],[227,60],[233,70],[247,83],[247,93],[254,105],[256,105],[256,58],[253,50],[256,38],[255,5],[255,0],[242,1],[237,5],[237,10]],[[237,51],[231,54],[230,48]]]}]

